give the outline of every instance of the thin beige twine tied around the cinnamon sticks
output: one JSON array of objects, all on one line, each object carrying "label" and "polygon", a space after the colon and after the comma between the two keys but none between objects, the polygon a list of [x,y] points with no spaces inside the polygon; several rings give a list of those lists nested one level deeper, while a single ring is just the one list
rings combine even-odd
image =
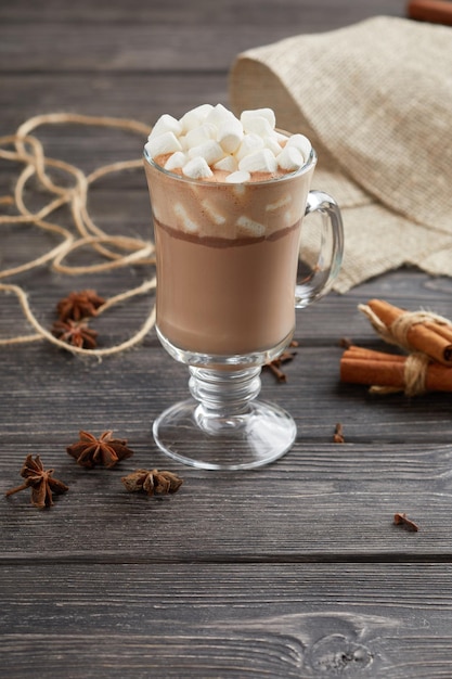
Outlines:
[{"label": "thin beige twine tied around the cinnamon sticks", "polygon": [[406,396],[419,396],[421,394],[425,394],[427,370],[431,359],[423,351],[413,351],[413,347],[408,340],[408,334],[413,325],[419,323],[435,322],[440,325],[451,325],[449,319],[431,311],[403,311],[390,325],[386,325],[369,305],[360,304],[358,308],[369,318],[372,326],[382,340],[410,353],[403,367],[403,388],[372,386],[370,392],[380,395],[404,392]]}]

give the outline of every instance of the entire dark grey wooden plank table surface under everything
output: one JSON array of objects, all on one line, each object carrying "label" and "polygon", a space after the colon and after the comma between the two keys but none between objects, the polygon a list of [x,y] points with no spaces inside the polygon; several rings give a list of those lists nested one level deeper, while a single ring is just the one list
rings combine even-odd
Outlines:
[{"label": "entire dark grey wooden plank table surface under everything", "polygon": [[[228,104],[240,51],[384,13],[403,16],[404,2],[3,2],[0,134],[51,112],[151,125],[203,102]],[[143,145],[139,133],[74,125],[38,136],[48,155],[83,172],[139,158]],[[20,169],[0,161],[0,195]],[[34,193],[31,181],[26,200]],[[146,238],[143,171],[95,182],[89,209],[108,233]],[[0,227],[2,270],[55,242],[33,227]],[[151,276],[146,266],[74,277],[41,266],[2,282],[21,285],[49,328],[70,291],[111,297]],[[341,337],[382,348],[358,304],[382,297],[451,318],[451,293],[450,279],[404,269],[299,311],[287,382],[262,374],[264,397],[294,414],[297,441],[258,471],[198,471],[157,450],[152,422],[185,397],[188,371],[154,331],[103,360],[44,340],[0,347],[2,494],[21,483],[29,453],[69,486],[43,511],[28,491],[1,501],[0,676],[452,676],[451,397],[376,398],[338,379]],[[126,341],[152,304],[142,295],[100,317],[102,346]],[[1,293],[0,337],[27,332],[16,297]],[[333,441],[337,422],[344,444]],[[79,430],[113,430],[134,457],[83,470],[66,453]],[[184,485],[162,499],[128,494],[120,478],[137,467],[171,470]],[[395,526],[395,512],[418,533]]]}]

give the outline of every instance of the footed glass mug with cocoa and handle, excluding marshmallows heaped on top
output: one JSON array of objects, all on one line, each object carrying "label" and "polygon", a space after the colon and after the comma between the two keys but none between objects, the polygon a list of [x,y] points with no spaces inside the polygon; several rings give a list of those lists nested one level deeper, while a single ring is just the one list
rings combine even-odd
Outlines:
[{"label": "footed glass mug with cocoa and handle, excluding marshmallows heaped on top", "polygon": [[[192,398],[154,422],[157,446],[202,469],[261,466],[296,437],[289,413],[257,399],[262,366],[290,343],[295,309],[323,296],[343,256],[340,210],[310,191],[314,150],[298,170],[236,184],[165,170],[144,151],[156,247],[156,332],[189,366]],[[301,223],[320,219],[320,248],[297,285]],[[301,247],[301,249],[300,249]]]}]

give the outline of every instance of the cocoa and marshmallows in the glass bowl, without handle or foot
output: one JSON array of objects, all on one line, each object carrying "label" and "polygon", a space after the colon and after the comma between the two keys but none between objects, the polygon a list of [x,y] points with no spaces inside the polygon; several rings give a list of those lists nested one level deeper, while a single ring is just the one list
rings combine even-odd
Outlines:
[{"label": "cocoa and marshmallows in the glass bowl, without handle or foot", "polygon": [[157,120],[145,145],[157,329],[183,351],[267,353],[289,342],[301,220],[315,165],[270,108],[205,104]]}]

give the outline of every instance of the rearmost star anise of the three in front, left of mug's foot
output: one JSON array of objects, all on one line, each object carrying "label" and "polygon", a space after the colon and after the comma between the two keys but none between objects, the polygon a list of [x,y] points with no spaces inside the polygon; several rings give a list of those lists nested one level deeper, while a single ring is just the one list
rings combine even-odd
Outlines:
[{"label": "rearmost star anise of the three in front, left of mug's foot", "polygon": [[104,432],[99,438],[95,438],[89,432],[80,432],[80,439],[67,446],[66,450],[69,456],[77,460],[80,466],[92,467],[95,464],[103,464],[112,467],[133,454],[133,450],[127,447],[127,440],[112,438],[113,432]]}]

